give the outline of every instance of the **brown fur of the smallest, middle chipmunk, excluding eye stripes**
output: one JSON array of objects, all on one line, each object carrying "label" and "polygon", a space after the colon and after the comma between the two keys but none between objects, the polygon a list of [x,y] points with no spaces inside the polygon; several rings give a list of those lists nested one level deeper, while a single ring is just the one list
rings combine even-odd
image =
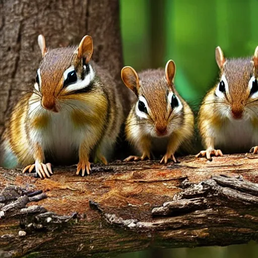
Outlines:
[{"label": "brown fur of the smallest, middle chipmunk, excluding eye stripes", "polygon": [[[130,73],[127,74],[131,76]],[[168,124],[171,125],[171,123],[180,128],[168,135],[166,154],[162,159],[164,163],[167,163],[169,158],[172,158],[175,161],[173,155],[179,146],[183,145],[184,149],[189,150],[189,144],[193,134],[193,114],[188,104],[176,92],[171,76],[166,76],[164,69],[150,69],[139,73],[139,88],[137,95],[145,97],[150,110],[147,119],[138,117],[135,113],[136,103],[138,103],[136,102],[126,119],[125,133],[127,140],[141,153],[141,159],[146,157],[150,158],[151,151],[152,153],[164,154],[153,149],[151,144],[152,137],[143,133],[145,132],[145,127],[147,125],[156,128],[157,133],[164,132],[167,129]],[[166,77],[169,80],[166,79]],[[126,80],[123,81],[126,82]],[[134,80],[130,81],[131,85],[126,85],[128,88],[132,88],[132,85],[135,84]],[[134,91],[134,89],[132,90]],[[169,91],[173,91],[182,102],[182,113],[174,114],[172,112],[170,103],[167,99]],[[137,136],[138,139],[135,139],[136,130],[140,130],[139,136]],[[134,158],[134,156],[130,156],[126,160],[130,160],[131,157]]]}]

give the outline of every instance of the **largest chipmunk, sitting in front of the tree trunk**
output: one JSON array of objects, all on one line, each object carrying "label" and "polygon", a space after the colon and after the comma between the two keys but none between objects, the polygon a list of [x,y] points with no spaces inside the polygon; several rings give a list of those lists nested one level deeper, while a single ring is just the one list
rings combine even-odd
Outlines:
[{"label": "largest chipmunk, sitting in front of the tree trunk", "polygon": [[116,85],[91,61],[91,36],[79,46],[47,49],[39,35],[38,44],[42,60],[34,90],[12,111],[2,163],[25,166],[23,172],[35,168],[44,178],[52,174],[48,160],[59,164],[79,158],[76,174],[90,174],[90,157],[107,164],[123,122]]}]

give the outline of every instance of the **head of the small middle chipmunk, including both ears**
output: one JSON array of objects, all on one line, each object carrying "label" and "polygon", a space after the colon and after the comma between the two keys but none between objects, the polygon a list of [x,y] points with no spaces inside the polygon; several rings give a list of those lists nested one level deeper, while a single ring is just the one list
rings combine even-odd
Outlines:
[{"label": "head of the small middle chipmunk, including both ears", "polygon": [[174,88],[175,63],[169,60],[162,70],[147,70],[138,77],[132,67],[121,70],[124,84],[138,97],[134,114],[146,134],[170,135],[182,123],[183,105]]}]

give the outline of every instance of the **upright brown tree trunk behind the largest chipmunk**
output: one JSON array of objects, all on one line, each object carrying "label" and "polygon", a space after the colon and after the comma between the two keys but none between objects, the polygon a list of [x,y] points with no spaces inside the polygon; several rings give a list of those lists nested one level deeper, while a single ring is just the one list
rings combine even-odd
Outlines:
[{"label": "upright brown tree trunk behind the largest chipmunk", "polygon": [[[32,89],[41,59],[37,36],[48,47],[93,37],[93,60],[121,83],[122,51],[118,0],[0,1],[0,135],[14,103]],[[124,103],[127,88],[121,84]]]}]

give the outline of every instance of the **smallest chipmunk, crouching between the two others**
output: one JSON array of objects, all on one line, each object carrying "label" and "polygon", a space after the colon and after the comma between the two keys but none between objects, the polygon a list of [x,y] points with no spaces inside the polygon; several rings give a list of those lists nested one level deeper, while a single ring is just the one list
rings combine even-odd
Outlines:
[{"label": "smallest chipmunk, crouching between the two others", "polygon": [[124,161],[151,158],[151,153],[164,154],[160,163],[177,162],[174,153],[193,135],[193,113],[174,86],[176,67],[173,60],[163,69],[139,74],[132,67],[121,70],[123,83],[138,97],[125,122],[127,140],[141,156]]}]

